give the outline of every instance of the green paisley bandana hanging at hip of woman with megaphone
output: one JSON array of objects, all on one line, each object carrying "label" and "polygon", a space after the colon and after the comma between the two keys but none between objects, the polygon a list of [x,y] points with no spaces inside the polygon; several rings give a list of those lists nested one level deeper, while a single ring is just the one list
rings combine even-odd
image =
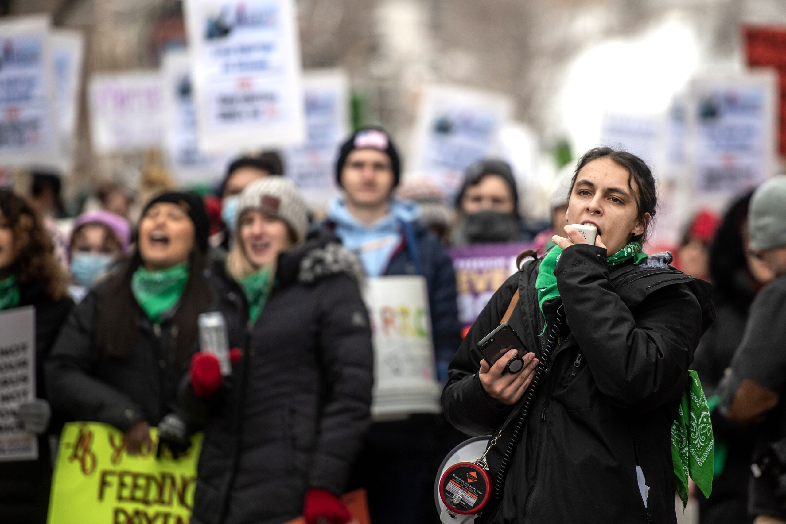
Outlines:
[{"label": "green paisley bandana hanging at hip of woman with megaphone", "polygon": [[701,389],[699,375],[691,369],[688,379],[690,383],[682,395],[677,419],[671,424],[674,483],[682,499],[683,510],[688,504],[688,477],[696,482],[704,497],[710,496],[715,461],[710,407]]}]

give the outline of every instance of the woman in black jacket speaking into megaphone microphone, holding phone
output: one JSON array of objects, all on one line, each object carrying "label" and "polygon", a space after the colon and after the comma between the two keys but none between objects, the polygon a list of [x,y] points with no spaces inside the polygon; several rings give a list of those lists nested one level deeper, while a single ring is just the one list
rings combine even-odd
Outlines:
[{"label": "woman in black jacket speaking into megaphone microphone, holding phone", "polygon": [[[688,366],[714,319],[711,286],[668,266],[670,255],[641,251],[655,211],[641,159],[586,152],[566,213],[568,224],[597,227],[595,244],[565,226],[567,237],[520,265],[461,344],[443,409],[467,434],[499,435],[487,455],[498,498],[482,522],[674,524],[674,488],[687,500],[687,471],[709,492],[709,411]],[[478,350],[506,311],[526,347],[518,374],[502,373],[515,350],[493,366]],[[516,422],[505,424],[509,416]],[[702,431],[688,445],[689,416]]]}]

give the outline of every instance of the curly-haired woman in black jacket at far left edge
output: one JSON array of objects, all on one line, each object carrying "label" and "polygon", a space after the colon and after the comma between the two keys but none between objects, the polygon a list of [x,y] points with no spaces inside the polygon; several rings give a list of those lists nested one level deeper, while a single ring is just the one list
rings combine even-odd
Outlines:
[{"label": "curly-haired woman in black jacket at far left edge", "polygon": [[0,462],[0,522],[46,522],[52,478],[46,432],[57,434],[59,428],[49,427],[43,361],[73,305],[68,276],[38,214],[20,196],[0,189],[0,310],[35,307],[35,399],[20,405],[17,420],[39,435],[38,460]]}]

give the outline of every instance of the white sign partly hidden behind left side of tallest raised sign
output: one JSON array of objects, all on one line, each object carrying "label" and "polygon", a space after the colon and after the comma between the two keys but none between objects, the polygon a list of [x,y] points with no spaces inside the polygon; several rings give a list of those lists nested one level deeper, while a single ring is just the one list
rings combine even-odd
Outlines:
[{"label": "white sign partly hidden behind left side of tallest raised sign", "polygon": [[220,180],[231,156],[204,152],[199,147],[191,63],[185,50],[164,55],[163,89],[167,108],[167,156],[175,178],[182,184]]}]

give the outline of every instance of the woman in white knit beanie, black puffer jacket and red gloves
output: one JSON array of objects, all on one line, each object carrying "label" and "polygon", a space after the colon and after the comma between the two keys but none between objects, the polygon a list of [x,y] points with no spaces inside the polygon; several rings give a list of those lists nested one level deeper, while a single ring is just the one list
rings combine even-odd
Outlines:
[{"label": "woman in white knit beanie, black puffer jacket and red gloves", "polygon": [[373,352],[362,267],[287,178],[252,182],[236,241],[210,268],[233,364],[196,354],[181,402],[204,424],[194,524],[350,519],[339,500],[370,423]]}]

